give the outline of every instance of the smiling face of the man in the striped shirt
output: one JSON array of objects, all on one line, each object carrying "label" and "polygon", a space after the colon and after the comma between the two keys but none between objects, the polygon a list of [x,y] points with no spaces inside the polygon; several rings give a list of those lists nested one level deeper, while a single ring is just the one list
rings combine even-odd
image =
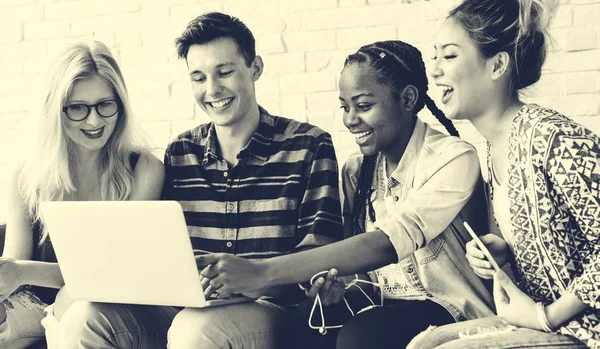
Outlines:
[{"label": "smiling face of the man in the striped shirt", "polygon": [[258,110],[254,82],[262,72],[260,58],[248,67],[235,41],[225,37],[190,46],[186,59],[194,98],[217,126],[244,124]]}]

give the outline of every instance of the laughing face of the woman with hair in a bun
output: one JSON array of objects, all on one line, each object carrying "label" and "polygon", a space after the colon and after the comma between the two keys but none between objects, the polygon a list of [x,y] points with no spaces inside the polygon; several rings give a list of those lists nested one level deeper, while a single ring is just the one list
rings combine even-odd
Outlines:
[{"label": "laughing face of the woman with hair in a bun", "polygon": [[494,95],[487,73],[491,60],[481,56],[467,31],[453,18],[440,27],[435,52],[431,76],[443,88],[444,113],[452,119],[481,115]]}]

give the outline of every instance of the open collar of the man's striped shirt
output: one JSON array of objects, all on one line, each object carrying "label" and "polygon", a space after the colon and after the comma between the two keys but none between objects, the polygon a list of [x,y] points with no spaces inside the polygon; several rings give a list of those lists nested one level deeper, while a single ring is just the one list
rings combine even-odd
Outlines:
[{"label": "open collar of the man's striped shirt", "polygon": [[[262,161],[266,161],[269,158],[269,149],[271,147],[271,142],[273,141],[273,135],[275,134],[276,119],[261,106],[258,106],[258,111],[260,113],[258,128],[250,138],[248,144],[240,151],[238,158],[244,157],[246,153],[251,154]],[[217,156],[219,144],[214,123],[210,123],[204,142],[205,147],[202,165],[208,164],[211,160],[219,159]]]}]

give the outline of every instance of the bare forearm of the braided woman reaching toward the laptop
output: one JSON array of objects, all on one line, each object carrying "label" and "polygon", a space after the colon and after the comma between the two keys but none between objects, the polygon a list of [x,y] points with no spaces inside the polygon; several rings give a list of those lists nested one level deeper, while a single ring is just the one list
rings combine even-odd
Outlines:
[{"label": "bare forearm of the braided woman reaching toward the laptop", "polygon": [[285,285],[309,280],[314,274],[336,268],[338,275],[378,269],[397,262],[396,250],[380,230],[312,250],[261,261],[269,285]]}]

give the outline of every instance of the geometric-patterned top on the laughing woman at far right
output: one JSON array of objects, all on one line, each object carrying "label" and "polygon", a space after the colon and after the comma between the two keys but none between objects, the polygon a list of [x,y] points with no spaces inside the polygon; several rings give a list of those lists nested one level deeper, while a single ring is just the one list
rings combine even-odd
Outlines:
[{"label": "geometric-patterned top on the laughing woman at far right", "polygon": [[519,287],[546,305],[590,306],[558,330],[600,348],[600,138],[558,112],[523,106],[509,138],[509,202]]}]

